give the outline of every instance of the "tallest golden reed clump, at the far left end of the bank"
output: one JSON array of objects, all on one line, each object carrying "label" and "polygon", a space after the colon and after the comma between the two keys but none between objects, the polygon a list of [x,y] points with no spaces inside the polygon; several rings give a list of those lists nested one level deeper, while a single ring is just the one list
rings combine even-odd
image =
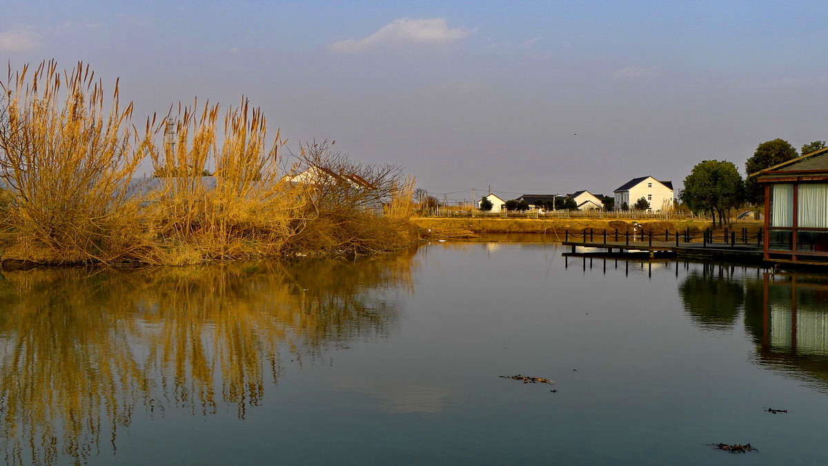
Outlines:
[{"label": "tallest golden reed clump, at the far left end of the bank", "polygon": [[121,108],[79,62],[28,66],[0,81],[0,179],[11,193],[4,256],[52,263],[111,262],[129,249],[117,232],[134,219],[128,182],[142,146],[130,144],[132,103]]}]

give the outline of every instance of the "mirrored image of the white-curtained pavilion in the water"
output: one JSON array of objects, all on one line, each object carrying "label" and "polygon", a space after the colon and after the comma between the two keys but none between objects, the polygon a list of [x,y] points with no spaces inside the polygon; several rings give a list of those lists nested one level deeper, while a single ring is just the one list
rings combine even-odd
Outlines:
[{"label": "mirrored image of the white-curtained pavilion in the water", "polygon": [[828,389],[828,277],[765,274],[762,285],[760,361]]}]

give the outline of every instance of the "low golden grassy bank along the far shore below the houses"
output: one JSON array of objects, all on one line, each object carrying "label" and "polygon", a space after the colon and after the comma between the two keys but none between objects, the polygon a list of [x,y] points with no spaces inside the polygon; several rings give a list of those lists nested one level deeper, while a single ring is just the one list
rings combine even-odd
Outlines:
[{"label": "low golden grassy bank along the far shore below the houses", "polygon": [[[539,233],[552,235],[563,240],[565,231],[583,231],[593,228],[595,231],[633,231],[633,221],[611,219],[516,219],[516,218],[431,218],[416,217],[412,223],[423,231],[425,237],[463,239],[486,233]],[[645,233],[653,235],[664,231],[686,231],[700,235],[710,226],[710,222],[697,220],[643,220],[638,224]],[[756,231],[760,222],[745,222],[737,225],[747,226],[749,231]]]}]

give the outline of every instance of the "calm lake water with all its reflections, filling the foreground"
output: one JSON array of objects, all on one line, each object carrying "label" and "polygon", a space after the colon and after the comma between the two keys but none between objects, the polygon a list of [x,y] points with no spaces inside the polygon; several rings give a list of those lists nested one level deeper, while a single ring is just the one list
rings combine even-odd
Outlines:
[{"label": "calm lake water with all its reflections, filling the foreground", "polygon": [[826,276],[563,252],[4,272],[5,460],[828,460]]}]

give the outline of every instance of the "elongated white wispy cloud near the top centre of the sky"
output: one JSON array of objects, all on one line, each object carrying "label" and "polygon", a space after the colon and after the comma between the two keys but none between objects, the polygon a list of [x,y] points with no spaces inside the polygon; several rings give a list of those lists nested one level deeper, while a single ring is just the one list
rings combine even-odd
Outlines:
[{"label": "elongated white wispy cloud near the top centre of the sky", "polygon": [[445,18],[394,20],[381,27],[379,31],[362,39],[345,39],[328,46],[338,53],[358,53],[376,46],[441,46],[465,39],[471,31],[464,27],[450,28]]}]

